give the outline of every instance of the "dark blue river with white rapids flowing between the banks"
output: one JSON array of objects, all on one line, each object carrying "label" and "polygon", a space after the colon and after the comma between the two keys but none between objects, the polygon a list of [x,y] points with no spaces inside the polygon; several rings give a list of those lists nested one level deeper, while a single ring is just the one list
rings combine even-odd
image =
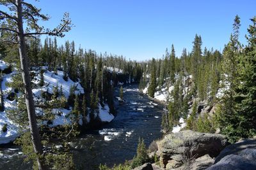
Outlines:
[{"label": "dark blue river with white rapids flowing between the banks", "polygon": [[[100,163],[108,166],[123,163],[136,154],[139,138],[147,146],[161,138],[163,105],[138,92],[137,87],[124,87],[125,102],[117,106],[116,118],[111,123],[70,143],[77,169],[97,169]],[[31,164],[23,159],[17,146],[0,148],[0,169],[31,169]]]}]

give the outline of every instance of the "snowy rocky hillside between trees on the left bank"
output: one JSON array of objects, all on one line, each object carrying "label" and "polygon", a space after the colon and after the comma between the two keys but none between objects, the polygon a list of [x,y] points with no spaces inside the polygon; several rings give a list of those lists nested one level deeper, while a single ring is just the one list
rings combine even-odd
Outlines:
[{"label": "snowy rocky hillside between trees on the left bank", "polygon": [[[68,99],[68,97],[70,96],[70,89],[72,87],[75,88],[74,94],[76,96],[84,95],[84,89],[81,86],[80,80],[74,82],[70,80],[70,78],[67,78],[66,81],[63,79],[63,71],[48,71],[47,68],[48,67],[42,67],[38,68],[37,71],[36,69],[31,71],[31,73],[34,74],[32,82],[35,85],[35,88],[33,89],[35,102],[42,102],[47,100],[51,101],[51,99],[47,99],[44,94],[52,96],[55,89],[61,89],[61,93],[63,93],[65,99]],[[19,91],[17,92],[17,90],[8,86],[8,83],[13,82],[13,76],[19,74],[17,69],[15,67],[10,68],[10,65],[3,60],[0,60],[0,69],[3,72],[1,76],[1,94],[3,99],[1,102],[3,106],[1,106],[1,108],[3,109],[0,112],[0,129],[3,129],[5,124],[7,125],[6,132],[0,131],[0,144],[2,144],[9,143],[20,135],[19,125],[15,124],[15,122],[8,118],[7,112],[8,110],[17,108],[17,104],[19,103],[17,103],[17,99],[15,99],[15,97],[22,96],[22,93],[20,93]],[[11,69],[11,73],[6,74],[5,72],[7,71],[7,69]],[[44,69],[44,85],[42,87],[40,87],[39,85],[41,69]],[[90,110],[90,108],[88,108],[88,110]],[[46,120],[44,120],[42,124],[48,125],[49,127],[72,124],[72,120],[70,120],[70,118],[72,117],[71,112],[72,106],[68,106],[68,108],[54,108],[54,110],[52,111],[52,114],[54,114],[54,118],[52,118],[51,124],[47,124]],[[42,114],[42,109],[37,108],[36,113],[38,115]],[[111,120],[113,120],[113,118],[115,117],[113,116],[113,114],[109,113],[108,104],[104,104],[104,107],[99,104],[99,112],[97,112],[95,118],[99,118],[101,122],[111,122]],[[86,124],[90,124],[89,114],[86,116],[86,120]],[[79,119],[78,123],[79,125],[84,124],[82,118]]]}]

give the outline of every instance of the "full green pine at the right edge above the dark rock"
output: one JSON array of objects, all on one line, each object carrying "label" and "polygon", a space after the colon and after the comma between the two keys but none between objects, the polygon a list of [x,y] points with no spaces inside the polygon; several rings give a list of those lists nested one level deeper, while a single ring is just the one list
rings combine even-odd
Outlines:
[{"label": "full green pine at the right edge above the dark rock", "polygon": [[[234,83],[234,92],[229,94],[234,97],[232,115],[224,113],[225,119],[221,122],[223,133],[227,134],[232,142],[240,138],[250,138],[256,134],[256,17],[251,20],[253,24],[249,26],[248,36],[246,36],[248,45],[240,54],[237,67],[239,83],[238,85]],[[224,106],[230,106],[230,103]]]}]

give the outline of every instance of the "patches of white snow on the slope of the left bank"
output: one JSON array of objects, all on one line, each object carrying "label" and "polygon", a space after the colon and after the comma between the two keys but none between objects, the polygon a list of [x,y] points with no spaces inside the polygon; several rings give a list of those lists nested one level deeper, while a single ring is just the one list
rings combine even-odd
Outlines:
[{"label": "patches of white snow on the slope of the left bank", "polygon": [[[0,69],[5,69],[8,67],[8,64],[6,62],[0,60]],[[44,67],[47,68],[47,67]],[[33,71],[36,73],[35,80],[33,83],[38,85],[40,83],[40,73],[39,71]],[[10,74],[3,74],[2,76],[2,83],[1,83],[1,88],[3,91],[3,99],[4,99],[4,108],[5,110],[0,112],[0,144],[1,143],[9,143],[10,141],[13,141],[15,138],[19,136],[19,129],[18,125],[14,124],[12,120],[10,120],[6,116],[6,110],[12,109],[17,105],[17,102],[10,101],[7,99],[8,94],[10,92],[14,92],[14,89],[7,87],[6,83],[12,82],[13,81],[13,76],[17,74],[17,72],[14,71]],[[50,94],[53,93],[54,87],[58,86],[63,90],[63,94],[66,98],[68,98],[69,93],[70,93],[70,87],[74,86],[76,87],[75,93],[76,94],[84,94],[84,89],[81,87],[81,84],[79,82],[74,82],[68,78],[67,81],[63,79],[63,71],[58,71],[57,74],[55,74],[53,71],[45,71],[44,73],[44,86],[39,87],[36,89],[33,89],[33,94],[35,97],[35,100],[44,100],[42,97],[43,92],[49,92]],[[19,95],[19,94],[18,94]],[[58,112],[60,114],[55,114],[54,120],[52,120],[52,125],[49,125],[51,127],[57,126],[57,125],[64,125],[64,124],[70,124],[70,118],[68,118],[68,115],[72,111],[72,108],[69,110],[66,109],[54,109],[53,112]],[[36,110],[36,113],[39,113],[39,110]],[[111,113],[109,113],[109,107],[108,105],[105,105],[104,108],[102,108],[99,104],[99,114],[98,114],[100,120],[102,122],[111,122],[113,118],[115,118]],[[97,115],[96,115],[97,117]],[[90,122],[90,117],[87,117],[87,121]],[[7,124],[7,131],[3,132],[3,126],[4,124]],[[79,124],[82,124],[82,119],[79,121]]]}]

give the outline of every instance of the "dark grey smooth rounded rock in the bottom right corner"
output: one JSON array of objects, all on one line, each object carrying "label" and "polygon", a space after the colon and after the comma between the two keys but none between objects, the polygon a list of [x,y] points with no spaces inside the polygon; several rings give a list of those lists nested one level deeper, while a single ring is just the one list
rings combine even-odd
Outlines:
[{"label": "dark grey smooth rounded rock in the bottom right corner", "polygon": [[256,139],[244,139],[227,146],[208,169],[256,169]]}]

